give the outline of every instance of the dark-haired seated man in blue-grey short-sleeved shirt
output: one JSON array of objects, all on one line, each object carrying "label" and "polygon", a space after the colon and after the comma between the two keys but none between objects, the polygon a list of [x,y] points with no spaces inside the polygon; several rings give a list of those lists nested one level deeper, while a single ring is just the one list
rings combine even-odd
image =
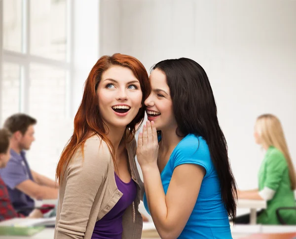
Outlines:
[{"label": "dark-haired seated man in blue-grey short-sleeved shirt", "polygon": [[37,120],[25,114],[15,114],[4,122],[12,136],[10,160],[0,169],[13,207],[28,216],[35,207],[34,199],[57,199],[58,186],[55,181],[30,169],[25,151],[29,150],[34,138]]}]

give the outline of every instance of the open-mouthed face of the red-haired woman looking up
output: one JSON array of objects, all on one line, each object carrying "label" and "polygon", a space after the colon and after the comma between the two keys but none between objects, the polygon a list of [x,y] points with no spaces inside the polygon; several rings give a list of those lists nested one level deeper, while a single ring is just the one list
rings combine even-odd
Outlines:
[{"label": "open-mouthed face of the red-haired woman looking up", "polygon": [[111,66],[97,88],[102,119],[110,127],[126,127],[142,107],[140,81],[126,67]]}]

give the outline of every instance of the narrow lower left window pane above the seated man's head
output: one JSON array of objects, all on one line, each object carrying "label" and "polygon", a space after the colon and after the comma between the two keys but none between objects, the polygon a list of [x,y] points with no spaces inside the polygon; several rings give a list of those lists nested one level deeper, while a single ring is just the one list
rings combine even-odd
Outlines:
[{"label": "narrow lower left window pane above the seated man's head", "polygon": [[1,82],[1,122],[20,110],[20,66],[3,63]]}]

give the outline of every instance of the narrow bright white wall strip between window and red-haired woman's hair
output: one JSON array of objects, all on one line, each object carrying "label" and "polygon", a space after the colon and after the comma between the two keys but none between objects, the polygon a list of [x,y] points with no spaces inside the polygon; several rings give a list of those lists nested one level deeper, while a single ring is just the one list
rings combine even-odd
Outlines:
[{"label": "narrow bright white wall strip between window and red-haired woman's hair", "polygon": [[74,0],[73,31],[73,115],[82,99],[84,82],[99,59],[100,3],[98,0]]}]

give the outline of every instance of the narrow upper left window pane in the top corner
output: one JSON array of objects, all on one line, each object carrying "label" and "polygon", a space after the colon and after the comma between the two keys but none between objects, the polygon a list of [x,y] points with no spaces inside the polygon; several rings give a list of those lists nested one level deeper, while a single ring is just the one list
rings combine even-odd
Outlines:
[{"label": "narrow upper left window pane in the top corner", "polygon": [[3,49],[22,51],[22,0],[3,0]]}]

